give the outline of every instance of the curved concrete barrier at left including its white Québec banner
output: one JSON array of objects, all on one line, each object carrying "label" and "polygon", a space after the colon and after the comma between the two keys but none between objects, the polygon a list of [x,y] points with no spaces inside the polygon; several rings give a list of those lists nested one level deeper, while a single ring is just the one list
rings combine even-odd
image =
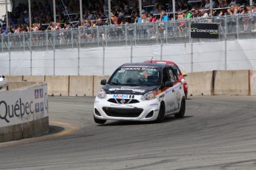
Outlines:
[{"label": "curved concrete barrier at left including its white Qu\u00e9bec banner", "polygon": [[[0,92],[0,142],[42,135],[49,131],[47,84]],[[13,85],[17,86],[17,85]]]}]

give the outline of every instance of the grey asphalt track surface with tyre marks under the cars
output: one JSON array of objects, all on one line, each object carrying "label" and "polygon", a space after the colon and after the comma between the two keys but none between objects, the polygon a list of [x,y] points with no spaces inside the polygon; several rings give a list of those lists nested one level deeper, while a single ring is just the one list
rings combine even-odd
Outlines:
[{"label": "grey asphalt track surface with tyre marks under the cars", "polygon": [[189,97],[185,118],[93,122],[94,98],[50,97],[50,135],[0,143],[0,169],[256,169],[256,97]]}]

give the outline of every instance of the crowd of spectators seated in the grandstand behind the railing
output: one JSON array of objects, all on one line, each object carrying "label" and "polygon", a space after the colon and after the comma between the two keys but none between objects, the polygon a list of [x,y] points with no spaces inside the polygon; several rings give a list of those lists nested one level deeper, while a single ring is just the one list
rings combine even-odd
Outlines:
[{"label": "crowd of spectators seated in the grandstand behind the railing", "polygon": [[[249,6],[247,0],[212,0],[212,7],[214,10],[211,14],[209,0],[177,0],[175,1],[177,14],[173,15],[172,1],[144,0],[142,1],[142,16],[140,16],[138,0],[114,0],[111,1],[111,24],[256,13],[256,6]],[[9,29],[6,27],[6,18],[0,21],[0,34],[89,28],[110,24],[108,0],[83,0],[82,23],[79,18],[79,9],[79,0],[56,0],[56,23],[54,23],[52,5],[47,0],[32,1],[31,20],[33,24],[30,27],[28,4],[19,3],[18,6],[13,7],[13,11],[8,12]],[[254,31],[256,32],[256,23]],[[154,30],[151,32],[154,33]]]}]

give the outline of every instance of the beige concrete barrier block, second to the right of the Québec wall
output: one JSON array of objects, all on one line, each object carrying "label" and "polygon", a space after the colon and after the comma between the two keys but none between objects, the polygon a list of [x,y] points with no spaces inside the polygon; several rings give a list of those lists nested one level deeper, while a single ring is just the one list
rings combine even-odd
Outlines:
[{"label": "beige concrete barrier block, second to the right of the Qu\u00e9bec wall", "polygon": [[69,96],[93,96],[93,76],[70,75]]}]

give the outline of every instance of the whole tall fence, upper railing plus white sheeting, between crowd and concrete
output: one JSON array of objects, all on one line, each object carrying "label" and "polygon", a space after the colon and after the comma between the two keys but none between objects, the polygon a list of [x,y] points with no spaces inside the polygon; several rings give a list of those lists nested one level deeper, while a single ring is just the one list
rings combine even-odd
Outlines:
[{"label": "whole tall fence, upper railing plus white sheeting, between crowd and concrete", "polygon": [[[254,19],[249,14],[1,35],[0,74],[110,75],[125,62],[151,59],[174,61],[186,72],[256,69]],[[220,23],[219,38],[191,38],[190,24],[201,22]]]}]

